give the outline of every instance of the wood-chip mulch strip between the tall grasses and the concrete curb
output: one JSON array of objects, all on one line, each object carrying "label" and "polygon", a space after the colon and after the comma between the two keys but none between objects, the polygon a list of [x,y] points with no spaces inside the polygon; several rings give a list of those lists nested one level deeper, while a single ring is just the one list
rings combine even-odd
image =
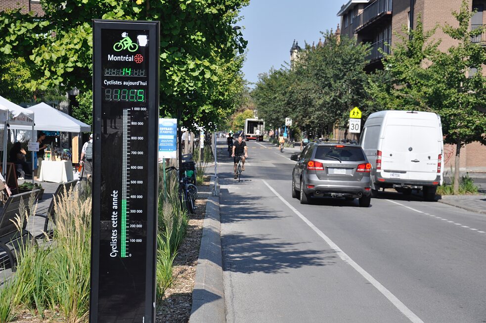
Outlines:
[{"label": "wood-chip mulch strip between the tall grasses and the concrete curb", "polygon": [[[209,177],[202,190],[206,188],[204,186],[209,187]],[[202,192],[196,200],[196,213],[190,215],[187,235],[177,251],[173,269],[174,282],[166,290],[162,304],[158,304],[157,323],[189,322],[206,202],[207,193]]]}]

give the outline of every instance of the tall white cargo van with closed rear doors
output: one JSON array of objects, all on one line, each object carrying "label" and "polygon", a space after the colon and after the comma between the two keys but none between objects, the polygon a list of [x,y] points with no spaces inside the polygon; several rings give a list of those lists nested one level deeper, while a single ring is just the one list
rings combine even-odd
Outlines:
[{"label": "tall white cargo van with closed rear doors", "polygon": [[372,192],[395,188],[405,194],[422,189],[424,198],[435,198],[442,185],[441,117],[422,111],[372,113],[360,138],[373,170]]}]

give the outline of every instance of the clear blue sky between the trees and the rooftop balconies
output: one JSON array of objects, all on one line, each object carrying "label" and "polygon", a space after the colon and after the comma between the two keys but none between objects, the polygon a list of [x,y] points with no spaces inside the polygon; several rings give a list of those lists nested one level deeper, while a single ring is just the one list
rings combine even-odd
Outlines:
[{"label": "clear blue sky between the trees and the rooftop balconies", "polygon": [[347,0],[251,0],[243,8],[243,20],[238,25],[248,41],[245,78],[257,82],[258,74],[273,66],[280,68],[290,60],[294,39],[304,47],[304,41],[319,41],[320,32],[336,30],[336,16]]}]

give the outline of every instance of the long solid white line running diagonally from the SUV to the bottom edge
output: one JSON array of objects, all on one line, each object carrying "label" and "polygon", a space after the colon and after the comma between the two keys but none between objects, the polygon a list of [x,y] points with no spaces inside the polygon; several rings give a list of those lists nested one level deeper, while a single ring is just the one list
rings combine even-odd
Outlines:
[{"label": "long solid white line running diagonally from the SUV to the bottom edge", "polygon": [[[380,293],[382,293],[388,300],[404,315],[406,316],[410,322],[413,323],[423,323],[423,321],[415,315],[408,307],[406,307],[405,304],[403,304],[397,296],[392,294],[391,291],[389,291],[385,286],[383,286],[378,280],[376,280],[374,277],[372,277],[368,272],[366,272],[361,266],[359,266],[356,262],[354,262],[353,259],[351,259],[350,256],[348,256],[340,247],[338,247],[337,244],[335,244],[327,235],[325,235],[322,231],[317,229],[316,226],[312,224],[302,213],[300,213],[295,207],[290,205],[287,200],[285,200],[273,187],[268,185],[265,180],[262,180],[263,183],[275,194],[285,205],[289,207],[299,218],[302,219],[309,227],[312,229],[315,233],[317,233],[326,243],[334,250],[336,251],[336,254],[338,254],[339,258],[341,258],[344,262],[349,264],[353,269],[358,272],[362,277],[364,277],[366,280],[368,280],[373,286],[375,286],[376,289]],[[419,211],[420,212],[420,211]],[[422,212],[420,212],[422,213]]]}]

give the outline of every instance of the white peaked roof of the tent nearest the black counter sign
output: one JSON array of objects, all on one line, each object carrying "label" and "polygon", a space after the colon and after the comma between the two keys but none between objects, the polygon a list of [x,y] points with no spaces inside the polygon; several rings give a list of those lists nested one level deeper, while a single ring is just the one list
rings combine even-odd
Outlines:
[{"label": "white peaked roof of the tent nearest the black counter sign", "polygon": [[[44,102],[28,107],[27,110],[33,111],[36,115],[34,130],[37,131],[61,131],[69,133],[91,131],[91,126]],[[29,130],[29,128],[22,126],[11,126],[10,129]]]}]

